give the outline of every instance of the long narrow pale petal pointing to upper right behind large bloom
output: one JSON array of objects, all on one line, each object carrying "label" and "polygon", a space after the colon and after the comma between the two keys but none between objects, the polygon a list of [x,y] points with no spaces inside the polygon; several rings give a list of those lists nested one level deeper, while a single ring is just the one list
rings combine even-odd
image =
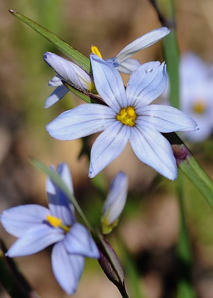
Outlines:
[{"label": "long narrow pale petal pointing to upper right behind large bloom", "polygon": [[137,39],[133,40],[129,43],[125,48],[123,48],[117,55],[118,63],[123,62],[127,58],[130,58],[132,55],[140,51],[141,49],[145,49],[154,43],[158,42],[160,39],[165,37],[170,33],[170,30],[167,27],[161,27],[158,29],[154,29]]}]

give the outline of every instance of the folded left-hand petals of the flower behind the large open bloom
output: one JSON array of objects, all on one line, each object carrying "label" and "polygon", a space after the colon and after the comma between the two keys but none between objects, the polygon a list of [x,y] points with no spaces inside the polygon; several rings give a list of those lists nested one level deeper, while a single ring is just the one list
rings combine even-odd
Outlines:
[{"label": "folded left-hand petals of the flower behind the large open bloom", "polygon": [[50,52],[44,54],[44,61],[58,74],[49,81],[49,86],[56,87],[56,89],[47,98],[45,108],[52,106],[69,92],[62,80],[83,92],[96,91],[91,76],[77,64]]}]

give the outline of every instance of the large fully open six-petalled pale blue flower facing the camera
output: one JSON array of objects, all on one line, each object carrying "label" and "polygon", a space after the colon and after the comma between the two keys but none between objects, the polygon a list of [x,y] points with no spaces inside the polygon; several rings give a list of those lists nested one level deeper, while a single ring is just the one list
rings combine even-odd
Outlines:
[{"label": "large fully open six-petalled pale blue flower facing the camera", "polygon": [[170,143],[162,133],[196,130],[196,122],[176,108],[150,104],[166,88],[166,66],[141,65],[126,89],[109,63],[91,54],[96,88],[107,104],[82,104],[59,115],[47,131],[58,140],[74,140],[104,131],[91,150],[89,177],[95,177],[129,141],[136,156],[165,177],[174,180],[177,166]]}]

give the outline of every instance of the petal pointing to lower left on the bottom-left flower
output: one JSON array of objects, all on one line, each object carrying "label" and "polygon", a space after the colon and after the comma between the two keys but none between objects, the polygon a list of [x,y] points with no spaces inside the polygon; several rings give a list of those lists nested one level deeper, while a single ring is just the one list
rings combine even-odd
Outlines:
[{"label": "petal pointing to lower left on the bottom-left flower", "polygon": [[64,231],[61,228],[53,228],[48,224],[37,224],[16,240],[6,255],[11,258],[31,255],[63,238]]}]

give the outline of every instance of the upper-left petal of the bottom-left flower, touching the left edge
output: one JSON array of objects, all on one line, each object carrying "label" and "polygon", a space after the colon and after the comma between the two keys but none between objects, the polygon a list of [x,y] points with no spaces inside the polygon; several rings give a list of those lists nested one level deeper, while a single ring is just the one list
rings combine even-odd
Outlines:
[{"label": "upper-left petal of the bottom-left flower, touching the left edge", "polygon": [[0,222],[9,234],[20,237],[31,227],[43,223],[49,214],[49,209],[40,205],[21,205],[3,211]]}]

